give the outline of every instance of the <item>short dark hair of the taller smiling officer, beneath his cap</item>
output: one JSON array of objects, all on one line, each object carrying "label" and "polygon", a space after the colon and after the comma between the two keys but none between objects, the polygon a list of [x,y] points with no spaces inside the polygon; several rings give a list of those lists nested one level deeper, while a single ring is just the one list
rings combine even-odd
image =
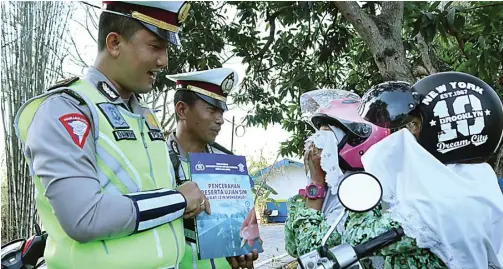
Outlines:
[{"label": "short dark hair of the taller smiling officer, beneath his cap", "polygon": [[[112,11],[122,12],[117,8],[110,8]],[[101,12],[98,26],[98,50],[102,51],[106,47],[107,35],[116,32],[129,41],[136,31],[144,27],[140,22],[125,16]]]}]

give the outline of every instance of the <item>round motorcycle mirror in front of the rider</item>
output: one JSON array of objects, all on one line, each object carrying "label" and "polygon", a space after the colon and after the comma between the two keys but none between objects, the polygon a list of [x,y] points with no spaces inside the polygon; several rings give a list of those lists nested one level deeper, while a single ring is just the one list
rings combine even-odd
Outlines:
[{"label": "round motorcycle mirror in front of the rider", "polygon": [[372,174],[356,172],[341,180],[337,196],[345,208],[354,212],[366,212],[381,201],[382,186]]}]

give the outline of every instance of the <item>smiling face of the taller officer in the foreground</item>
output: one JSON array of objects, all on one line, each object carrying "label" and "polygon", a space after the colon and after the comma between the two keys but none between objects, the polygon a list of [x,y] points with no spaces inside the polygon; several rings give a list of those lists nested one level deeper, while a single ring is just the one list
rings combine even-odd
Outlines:
[{"label": "smiling face of the taller officer in the foreground", "polygon": [[134,93],[150,92],[156,75],[168,64],[168,41],[141,29],[120,46],[121,86]]}]

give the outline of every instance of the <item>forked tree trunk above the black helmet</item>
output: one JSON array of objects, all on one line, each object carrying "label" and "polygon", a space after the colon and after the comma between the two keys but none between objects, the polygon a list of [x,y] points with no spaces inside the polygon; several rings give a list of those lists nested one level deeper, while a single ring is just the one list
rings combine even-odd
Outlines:
[{"label": "forked tree trunk above the black helmet", "polygon": [[369,46],[383,80],[415,81],[402,43],[403,2],[381,2],[381,14],[366,13],[357,2],[334,2]]}]

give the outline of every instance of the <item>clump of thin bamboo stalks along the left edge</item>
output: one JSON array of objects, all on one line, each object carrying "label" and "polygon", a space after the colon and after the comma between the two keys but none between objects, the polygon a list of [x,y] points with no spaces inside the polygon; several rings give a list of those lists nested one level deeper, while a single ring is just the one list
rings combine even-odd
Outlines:
[{"label": "clump of thin bamboo stalks along the left edge", "polygon": [[[2,243],[33,233],[34,186],[17,139],[14,120],[21,105],[58,78],[63,33],[71,5],[65,2],[2,2],[1,58],[7,199],[2,203]],[[60,73],[60,72],[59,72]],[[6,214],[5,214],[6,213]]]}]

